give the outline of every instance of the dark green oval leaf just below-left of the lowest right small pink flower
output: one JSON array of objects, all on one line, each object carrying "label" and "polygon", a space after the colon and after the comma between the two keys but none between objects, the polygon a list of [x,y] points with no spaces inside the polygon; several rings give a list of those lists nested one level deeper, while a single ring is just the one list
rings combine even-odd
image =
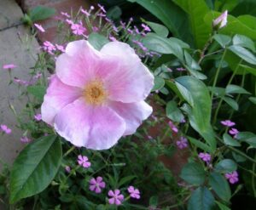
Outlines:
[{"label": "dark green oval leaf just below-left of the lowest right small pink flower", "polygon": [[215,172],[210,173],[209,184],[219,198],[224,201],[230,201],[230,184],[228,184],[227,180],[224,179],[223,175]]}]

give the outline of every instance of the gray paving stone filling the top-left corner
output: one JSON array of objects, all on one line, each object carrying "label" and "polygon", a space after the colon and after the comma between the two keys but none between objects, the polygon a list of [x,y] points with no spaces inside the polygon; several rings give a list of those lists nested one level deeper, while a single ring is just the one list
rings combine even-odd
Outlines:
[{"label": "gray paving stone filling the top-left corner", "polygon": [[22,11],[15,0],[0,0],[0,31],[20,24],[22,16]]}]

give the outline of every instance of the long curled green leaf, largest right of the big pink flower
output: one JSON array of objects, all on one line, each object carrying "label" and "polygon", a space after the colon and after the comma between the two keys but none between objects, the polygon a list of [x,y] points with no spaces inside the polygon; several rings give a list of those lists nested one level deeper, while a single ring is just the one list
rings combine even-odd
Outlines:
[{"label": "long curled green leaf, largest right of the big pink flower", "polygon": [[211,126],[212,100],[204,82],[195,77],[183,76],[176,78],[176,86],[183,98],[191,106],[189,122],[207,141],[212,150],[216,148],[216,139]]}]

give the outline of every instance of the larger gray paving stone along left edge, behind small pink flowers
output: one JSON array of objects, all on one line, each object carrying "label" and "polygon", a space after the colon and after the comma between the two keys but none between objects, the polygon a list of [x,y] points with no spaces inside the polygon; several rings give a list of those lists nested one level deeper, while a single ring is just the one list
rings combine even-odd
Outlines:
[{"label": "larger gray paving stone along left edge, behind small pink flowers", "polygon": [[[9,72],[3,70],[2,66],[13,63],[18,66],[12,71],[14,77],[24,80],[29,78],[29,68],[35,63],[39,46],[35,38],[27,36],[28,32],[24,26],[0,31],[0,124],[7,124],[13,130],[10,135],[0,134],[0,158],[9,165],[23,147],[20,143],[22,133],[15,128],[16,118],[9,110],[9,104],[14,105],[19,113],[25,101],[19,99],[17,86],[9,85]],[[0,163],[0,170],[1,167]]]}]

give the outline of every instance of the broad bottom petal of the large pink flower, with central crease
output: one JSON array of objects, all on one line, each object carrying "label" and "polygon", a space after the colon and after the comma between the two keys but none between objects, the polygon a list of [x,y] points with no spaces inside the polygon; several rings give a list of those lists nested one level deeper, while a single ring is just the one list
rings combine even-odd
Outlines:
[{"label": "broad bottom petal of the large pink flower, with central crease", "polygon": [[73,145],[106,150],[123,135],[125,122],[107,106],[86,105],[80,98],[55,116],[55,130]]}]

